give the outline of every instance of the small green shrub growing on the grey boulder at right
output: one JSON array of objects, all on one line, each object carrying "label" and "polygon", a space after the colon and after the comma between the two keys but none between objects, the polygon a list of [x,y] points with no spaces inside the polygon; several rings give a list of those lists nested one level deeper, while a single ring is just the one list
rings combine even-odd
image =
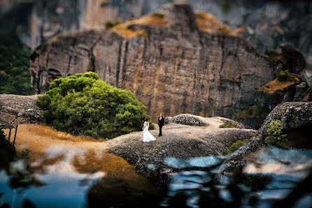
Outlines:
[{"label": "small green shrub growing on the grey boulder at right", "polygon": [[287,135],[283,134],[283,126],[280,120],[271,121],[267,133],[264,142],[268,145],[283,146],[287,140]]}]

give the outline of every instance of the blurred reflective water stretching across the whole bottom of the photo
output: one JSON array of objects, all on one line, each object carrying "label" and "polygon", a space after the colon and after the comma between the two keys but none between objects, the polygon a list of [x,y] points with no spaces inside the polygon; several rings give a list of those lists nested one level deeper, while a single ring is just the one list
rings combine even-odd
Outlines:
[{"label": "blurred reflective water stretching across the whole bottom of the photo", "polygon": [[[56,148],[59,149],[59,148]],[[73,150],[76,151],[76,150]],[[53,150],[53,152],[57,152]],[[79,151],[78,151],[79,152]],[[48,157],[55,157],[50,154]],[[83,154],[81,151],[80,154]],[[10,164],[10,174],[0,171],[0,206],[22,207],[25,203],[36,207],[89,207],[92,193],[107,202],[119,200],[118,207],[127,206],[132,200],[148,198],[137,193],[126,200],[118,198],[118,187],[111,188],[111,195],[101,191],[90,192],[94,186],[105,179],[105,172],[92,174],[81,173],[71,164],[72,152],[57,163],[45,165],[29,171],[24,161]],[[312,194],[310,184],[302,186],[300,182],[311,177],[312,150],[278,149],[268,147],[261,151],[254,160],[243,168],[239,176],[223,176],[222,184],[215,184],[220,156],[207,156],[181,160],[165,158],[169,168],[181,168],[169,174],[170,181],[166,194],[156,204],[159,207],[272,207],[275,202],[282,202],[296,188],[302,191],[299,197],[291,198],[291,207],[311,207]],[[38,166],[38,163],[32,165]],[[155,169],[155,165],[148,164]],[[189,170],[187,170],[189,169]],[[105,180],[104,180],[105,182]],[[303,188],[302,188],[303,187]],[[308,188],[305,189],[304,188]],[[310,188],[310,189],[309,189]],[[141,195],[140,195],[141,194]],[[117,197],[116,197],[117,196]],[[153,196],[151,196],[153,198]],[[116,199],[117,198],[117,199]],[[140,202],[140,201],[139,201]],[[94,204],[95,203],[95,204]],[[146,206],[150,201],[142,200],[138,206]],[[101,204],[100,204],[101,205]],[[117,204],[114,204],[117,206]],[[149,205],[149,206],[151,206]],[[91,206],[92,207],[92,206]]]}]

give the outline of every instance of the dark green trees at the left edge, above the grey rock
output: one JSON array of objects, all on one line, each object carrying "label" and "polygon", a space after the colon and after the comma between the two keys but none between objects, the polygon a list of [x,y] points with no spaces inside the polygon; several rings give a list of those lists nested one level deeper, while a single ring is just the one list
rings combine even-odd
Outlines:
[{"label": "dark green trees at the left edge, above the grey rock", "polygon": [[29,57],[31,50],[15,33],[0,34],[0,94],[32,95]]}]

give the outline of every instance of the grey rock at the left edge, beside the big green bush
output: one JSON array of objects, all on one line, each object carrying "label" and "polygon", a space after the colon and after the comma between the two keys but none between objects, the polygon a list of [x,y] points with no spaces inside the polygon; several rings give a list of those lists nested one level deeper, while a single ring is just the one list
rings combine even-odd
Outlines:
[{"label": "grey rock at the left edge, beside the big green bush", "polygon": [[17,96],[0,94],[0,114],[6,112],[15,117],[22,117],[22,124],[40,124],[45,121],[43,110],[36,104],[38,95]]}]

